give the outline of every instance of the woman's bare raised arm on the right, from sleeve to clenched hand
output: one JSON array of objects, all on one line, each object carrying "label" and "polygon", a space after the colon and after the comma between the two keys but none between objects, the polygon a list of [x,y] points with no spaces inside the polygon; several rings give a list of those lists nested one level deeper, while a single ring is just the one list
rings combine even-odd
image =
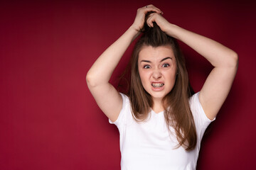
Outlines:
[{"label": "woman's bare raised arm on the right, from sleeve to clenched hand", "polygon": [[199,94],[203,110],[212,120],[223,105],[233,84],[238,69],[238,55],[214,40],[169,23],[157,13],[151,14],[147,23],[153,26],[154,21],[166,34],[186,43],[213,65],[214,68]]}]

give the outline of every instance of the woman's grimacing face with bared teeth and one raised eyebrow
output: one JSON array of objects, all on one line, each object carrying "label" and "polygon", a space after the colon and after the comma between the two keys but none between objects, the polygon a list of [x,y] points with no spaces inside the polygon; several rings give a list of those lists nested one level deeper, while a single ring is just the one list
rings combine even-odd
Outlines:
[{"label": "woman's grimacing face with bared teeth and one raised eyebrow", "polygon": [[171,46],[144,46],[139,52],[139,77],[153,101],[162,100],[173,89],[176,59]]}]

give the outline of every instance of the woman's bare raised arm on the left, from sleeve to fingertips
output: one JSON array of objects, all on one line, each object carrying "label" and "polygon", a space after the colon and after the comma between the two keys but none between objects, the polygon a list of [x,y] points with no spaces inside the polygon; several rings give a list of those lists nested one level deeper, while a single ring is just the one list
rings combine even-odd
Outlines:
[{"label": "woman's bare raised arm on the left, from sleeve to fingertips", "polygon": [[144,24],[145,14],[149,11],[161,13],[154,6],[139,8],[132,26],[100,55],[89,72],[87,72],[87,86],[95,98],[97,105],[112,122],[117,120],[119,112],[122,109],[122,97],[114,89],[114,86],[109,83],[109,80],[127,47],[139,35],[139,30]]}]

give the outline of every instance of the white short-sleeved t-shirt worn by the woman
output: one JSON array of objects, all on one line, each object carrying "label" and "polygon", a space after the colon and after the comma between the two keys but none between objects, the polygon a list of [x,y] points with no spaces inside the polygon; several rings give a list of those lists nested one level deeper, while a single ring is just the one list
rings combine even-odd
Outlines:
[{"label": "white short-sleeved t-shirt worn by the woman", "polygon": [[198,94],[189,98],[191,112],[196,124],[198,141],[193,151],[187,152],[178,147],[174,129],[171,135],[164,120],[164,111],[149,113],[151,117],[144,122],[137,122],[132,116],[129,98],[122,95],[123,106],[117,120],[120,137],[120,151],[122,155],[122,170],[174,170],[196,169],[200,143],[208,125],[212,122],[206,117]]}]

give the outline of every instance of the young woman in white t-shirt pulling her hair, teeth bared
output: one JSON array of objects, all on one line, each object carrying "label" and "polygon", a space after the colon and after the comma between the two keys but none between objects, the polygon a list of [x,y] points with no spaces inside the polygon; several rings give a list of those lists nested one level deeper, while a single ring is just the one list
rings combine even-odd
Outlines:
[{"label": "young woman in white t-shirt pulling her hair, teeth bared", "polygon": [[[87,73],[98,106],[117,125],[122,169],[196,169],[203,132],[228,96],[238,55],[220,43],[166,21],[153,5],[139,8],[134,23]],[[142,33],[131,58],[127,95],[109,83],[130,43]],[[193,94],[176,39],[212,65]]]}]

